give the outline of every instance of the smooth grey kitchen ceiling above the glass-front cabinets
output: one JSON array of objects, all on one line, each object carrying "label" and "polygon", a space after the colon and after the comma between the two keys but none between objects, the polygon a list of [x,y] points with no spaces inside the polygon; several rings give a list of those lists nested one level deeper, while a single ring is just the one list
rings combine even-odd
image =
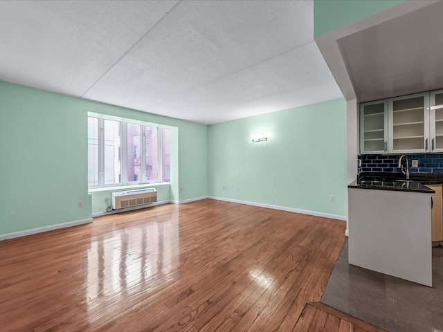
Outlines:
[{"label": "smooth grey kitchen ceiling above the glass-front cabinets", "polygon": [[359,102],[443,88],[443,1],[338,39]]}]

